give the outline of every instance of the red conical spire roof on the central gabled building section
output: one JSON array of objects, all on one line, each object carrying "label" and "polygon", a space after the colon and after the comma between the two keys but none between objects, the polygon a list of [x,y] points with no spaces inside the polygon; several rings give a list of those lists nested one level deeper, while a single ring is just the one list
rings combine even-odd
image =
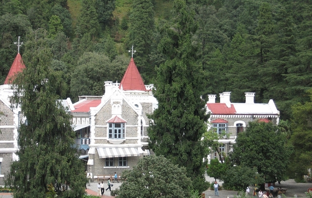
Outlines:
[{"label": "red conical spire roof on the central gabled building section", "polygon": [[133,58],[131,58],[129,66],[123,75],[119,89],[123,90],[139,90],[146,91],[143,79],[137,70],[137,66]]}]

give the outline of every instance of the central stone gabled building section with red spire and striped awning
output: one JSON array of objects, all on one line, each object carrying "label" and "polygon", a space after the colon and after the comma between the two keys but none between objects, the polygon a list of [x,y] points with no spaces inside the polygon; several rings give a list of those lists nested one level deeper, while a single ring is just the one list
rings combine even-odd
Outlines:
[{"label": "central stone gabled building section with red spire and striped awning", "polygon": [[106,81],[103,96],[79,97],[72,104],[78,142],[88,144],[79,147],[80,158],[93,177],[120,174],[150,154],[147,115],[157,108],[152,88],[144,85],[132,58],[121,83]]}]

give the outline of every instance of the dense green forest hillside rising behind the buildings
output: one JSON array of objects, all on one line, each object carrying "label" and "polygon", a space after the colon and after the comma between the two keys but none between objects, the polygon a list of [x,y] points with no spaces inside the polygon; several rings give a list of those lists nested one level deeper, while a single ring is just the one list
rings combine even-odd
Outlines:
[{"label": "dense green forest hillside rising behind the buildings", "polygon": [[[199,49],[197,64],[209,77],[203,87],[207,93],[231,91],[231,101],[242,102],[244,92],[256,92],[256,102],[274,99],[282,119],[291,117],[291,105],[310,101],[311,0],[187,4],[198,23],[192,43]],[[158,43],[161,27],[175,17],[171,7],[172,0],[2,0],[0,80],[17,54],[14,42],[20,36],[24,43],[46,40],[53,69],[62,73],[73,100],[102,95],[104,81],[120,81],[132,45],[142,78],[153,83],[155,68],[167,59]],[[22,46],[20,54],[28,50]]]}]

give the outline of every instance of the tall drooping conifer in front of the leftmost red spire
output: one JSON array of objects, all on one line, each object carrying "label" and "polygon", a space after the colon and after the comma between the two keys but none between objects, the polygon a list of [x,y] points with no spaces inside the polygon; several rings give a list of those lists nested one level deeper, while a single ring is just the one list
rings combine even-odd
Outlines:
[{"label": "tall drooping conifer in front of the leftmost red spire", "polygon": [[19,160],[12,162],[6,184],[16,188],[14,198],[45,198],[48,184],[62,198],[82,198],[84,167],[73,147],[71,116],[58,102],[66,85],[53,71],[52,53],[45,40],[38,39],[39,31],[24,45],[26,69],[14,82],[12,102],[20,105],[26,121],[18,129]]}]

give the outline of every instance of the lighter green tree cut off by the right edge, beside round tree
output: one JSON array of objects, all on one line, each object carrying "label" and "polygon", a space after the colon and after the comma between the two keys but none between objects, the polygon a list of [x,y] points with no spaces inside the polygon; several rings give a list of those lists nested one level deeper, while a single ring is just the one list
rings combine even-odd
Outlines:
[{"label": "lighter green tree cut off by the right edge, beside round tree", "polygon": [[[312,97],[312,91],[307,94]],[[297,182],[303,181],[303,176],[308,174],[312,162],[312,102],[297,103],[292,106],[292,137],[291,143],[294,153],[291,158],[289,175]]]}]

